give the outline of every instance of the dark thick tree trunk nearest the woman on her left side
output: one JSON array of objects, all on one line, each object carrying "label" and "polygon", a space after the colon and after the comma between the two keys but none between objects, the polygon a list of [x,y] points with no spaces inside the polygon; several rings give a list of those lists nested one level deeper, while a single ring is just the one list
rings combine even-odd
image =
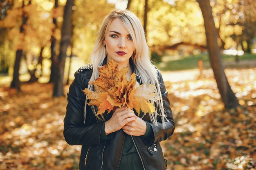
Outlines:
[{"label": "dark thick tree trunk nearest the woman on her left side", "polygon": [[70,37],[71,37],[73,1],[74,0],[67,0],[65,9],[64,9],[63,26],[61,31],[60,54],[58,57],[58,71],[57,71],[57,77],[54,81],[54,91],[53,91],[54,97],[64,96],[64,92],[63,92],[64,66],[65,66],[67,46],[70,43]]}]

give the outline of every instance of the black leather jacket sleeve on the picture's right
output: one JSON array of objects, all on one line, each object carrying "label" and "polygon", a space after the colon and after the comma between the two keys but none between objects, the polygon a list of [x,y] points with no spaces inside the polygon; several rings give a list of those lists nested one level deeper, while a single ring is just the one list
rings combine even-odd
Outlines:
[{"label": "black leather jacket sleeve on the picture's right", "polygon": [[166,118],[168,119],[168,121],[166,122],[165,127],[162,126],[163,124],[162,124],[161,117],[157,117],[158,126],[155,126],[153,123],[150,122],[150,126],[152,127],[154,132],[154,139],[152,138],[144,139],[146,144],[156,144],[156,143],[159,143],[160,141],[166,140],[168,137],[170,137],[173,134],[175,129],[175,123],[173,120],[172,110],[170,107],[170,101],[168,99],[168,91],[164,86],[163,77],[159,70],[157,70],[157,74],[158,74],[158,81],[159,81],[159,85],[162,93],[164,114],[166,115]]}]

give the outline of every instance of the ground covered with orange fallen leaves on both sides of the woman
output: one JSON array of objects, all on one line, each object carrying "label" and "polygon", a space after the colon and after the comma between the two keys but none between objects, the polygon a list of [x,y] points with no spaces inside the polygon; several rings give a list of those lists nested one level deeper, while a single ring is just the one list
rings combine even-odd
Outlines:
[{"label": "ground covered with orange fallen leaves on both sides of the woman", "polygon": [[[239,108],[223,109],[211,70],[163,72],[176,123],[161,142],[168,170],[256,169],[256,68],[226,74]],[[52,98],[52,84],[21,89],[0,88],[0,169],[77,170],[81,148],[63,137],[66,97]]]}]

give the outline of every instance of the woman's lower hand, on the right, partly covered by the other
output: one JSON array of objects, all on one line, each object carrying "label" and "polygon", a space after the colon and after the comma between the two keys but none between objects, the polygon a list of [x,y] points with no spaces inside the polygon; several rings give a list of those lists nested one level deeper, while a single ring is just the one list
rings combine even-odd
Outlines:
[{"label": "woman's lower hand, on the right, partly covered by the other", "polygon": [[137,117],[137,119],[130,121],[124,127],[124,132],[132,136],[142,136],[145,135],[147,130],[147,124],[144,120]]}]

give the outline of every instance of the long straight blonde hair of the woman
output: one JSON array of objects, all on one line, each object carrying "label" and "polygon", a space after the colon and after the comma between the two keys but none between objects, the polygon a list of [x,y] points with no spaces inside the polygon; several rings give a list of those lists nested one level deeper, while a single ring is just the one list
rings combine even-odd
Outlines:
[{"label": "long straight blonde hair of the woman", "polygon": [[[121,20],[122,24],[128,30],[132,37],[135,46],[135,52],[133,53],[131,58],[133,63],[135,64],[135,72],[137,73],[137,75],[140,76],[142,83],[155,85],[156,93],[161,98],[154,103],[158,113],[155,112],[153,114],[150,114],[150,120],[153,122],[154,125],[157,126],[157,116],[160,116],[162,119],[162,124],[163,126],[165,126],[165,122],[168,121],[168,119],[166,119],[166,115],[164,114],[164,106],[160,85],[158,82],[157,70],[150,61],[149,49],[146,43],[145,33],[141,22],[139,21],[139,18],[137,18],[137,16],[130,10],[113,10],[109,15],[104,18],[103,23],[101,24],[101,27],[99,29],[94,49],[92,50],[89,58],[89,60],[92,61],[93,65],[92,77],[90,78],[90,81],[99,77],[99,71],[97,70],[97,68],[98,66],[101,66],[101,63],[107,55],[106,48],[103,46],[103,40],[105,39],[112,20],[114,20],[115,18],[119,18],[119,20]],[[88,85],[88,88],[90,90],[93,90],[93,86]],[[87,97],[85,100],[84,114],[86,114],[86,105]],[[92,107],[92,111],[95,115],[97,114],[97,110],[94,106]],[[105,121],[103,115],[96,115],[96,117],[100,120]]]}]

